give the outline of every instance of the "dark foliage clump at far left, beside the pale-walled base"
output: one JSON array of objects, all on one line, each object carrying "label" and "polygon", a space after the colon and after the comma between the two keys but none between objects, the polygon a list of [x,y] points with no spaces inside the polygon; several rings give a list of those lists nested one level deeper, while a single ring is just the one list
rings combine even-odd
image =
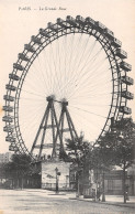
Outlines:
[{"label": "dark foliage clump at far left, beside the pale-walled base", "polygon": [[[13,154],[12,161],[0,165],[0,178],[9,182],[8,188],[40,188],[41,163],[33,162],[27,154]],[[4,183],[4,188],[7,183]]]}]

